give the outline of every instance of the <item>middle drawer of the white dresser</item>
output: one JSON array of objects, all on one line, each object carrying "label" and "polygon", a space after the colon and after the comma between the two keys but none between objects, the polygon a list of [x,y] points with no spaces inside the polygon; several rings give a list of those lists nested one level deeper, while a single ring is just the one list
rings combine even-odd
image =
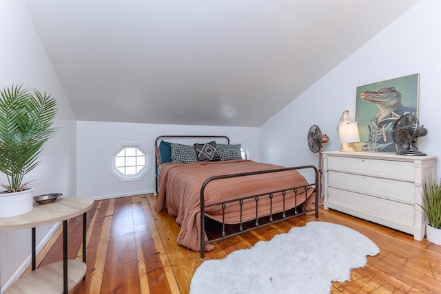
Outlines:
[{"label": "middle drawer of the white dresser", "polygon": [[380,179],[329,170],[329,187],[340,188],[402,203],[415,202],[415,186],[406,181]]}]

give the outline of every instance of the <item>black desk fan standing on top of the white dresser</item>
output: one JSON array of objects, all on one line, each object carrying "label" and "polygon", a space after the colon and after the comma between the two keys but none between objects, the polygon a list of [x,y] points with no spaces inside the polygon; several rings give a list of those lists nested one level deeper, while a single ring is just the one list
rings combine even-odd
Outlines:
[{"label": "black desk fan standing on top of the white dresser", "polygon": [[427,128],[420,126],[418,118],[415,115],[405,114],[402,115],[392,127],[392,139],[393,142],[400,146],[407,145],[406,150],[400,150],[397,155],[416,155],[425,156],[424,152],[418,151],[415,146],[415,140],[418,137],[424,137],[427,135]]}]

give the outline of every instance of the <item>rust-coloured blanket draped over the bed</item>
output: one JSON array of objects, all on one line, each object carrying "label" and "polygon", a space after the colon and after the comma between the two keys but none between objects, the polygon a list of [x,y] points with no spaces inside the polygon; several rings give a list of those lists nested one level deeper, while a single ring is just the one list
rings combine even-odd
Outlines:
[{"label": "rust-coloured blanket draped over the bed", "polygon": [[[201,186],[209,177],[221,174],[236,174],[257,170],[273,170],[283,168],[267,163],[258,163],[251,160],[232,161],[204,161],[196,163],[170,163],[161,168],[159,174],[159,192],[156,202],[156,210],[167,208],[168,213],[176,216],[176,222],[181,225],[178,234],[178,244],[189,249],[201,251],[201,238],[207,240],[207,236],[201,236]],[[284,172],[272,172],[268,174],[255,174],[246,177],[221,179],[210,182],[205,188],[205,204],[216,203],[226,199],[238,199],[243,196],[256,195],[263,192],[274,192],[307,185],[306,179],[296,170]],[[299,189],[297,197],[294,191],[285,196],[285,210],[302,203],[311,205],[313,197],[312,188],[305,191]],[[308,199],[308,201],[307,201]],[[283,211],[283,196],[281,193],[274,194],[272,213]],[[307,202],[305,202],[307,201]],[[267,205],[265,205],[265,203]],[[259,217],[269,215],[269,197],[259,199]],[[239,223],[240,206],[228,204],[225,210],[225,223]],[[209,218],[222,220],[222,208],[208,207],[205,215]],[[249,199],[243,204],[243,221],[256,218],[256,201]],[[205,250],[212,250],[212,245],[205,245]]]}]

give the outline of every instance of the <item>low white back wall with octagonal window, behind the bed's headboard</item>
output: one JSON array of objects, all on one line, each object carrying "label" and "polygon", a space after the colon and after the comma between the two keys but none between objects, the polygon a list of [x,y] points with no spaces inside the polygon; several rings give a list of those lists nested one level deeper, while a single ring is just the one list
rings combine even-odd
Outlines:
[{"label": "low white back wall with octagonal window, behind the bed's headboard", "polygon": [[[243,143],[249,159],[259,160],[259,129],[228,126],[178,126],[115,122],[77,122],[77,192],[105,199],[154,191],[154,144],[159,135],[227,135],[232,144]],[[208,142],[208,141],[207,141]],[[139,181],[120,181],[110,173],[112,152],[120,144],[140,144],[149,152],[152,169]]]}]

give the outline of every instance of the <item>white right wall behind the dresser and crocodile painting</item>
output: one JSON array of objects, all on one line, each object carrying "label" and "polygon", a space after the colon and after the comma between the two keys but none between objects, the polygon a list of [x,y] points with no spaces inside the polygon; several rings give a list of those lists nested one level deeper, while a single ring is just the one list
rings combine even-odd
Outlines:
[{"label": "white right wall behind the dresser and crocodile painting", "polygon": [[[418,148],[441,157],[441,1],[422,0],[260,127],[260,159],[284,166],[318,164],[307,131],[320,126],[330,139],[324,150],[339,150],[336,130],[349,110],[355,120],[356,88],[420,73],[419,120],[429,131]],[[438,160],[438,176],[441,163]]]}]

